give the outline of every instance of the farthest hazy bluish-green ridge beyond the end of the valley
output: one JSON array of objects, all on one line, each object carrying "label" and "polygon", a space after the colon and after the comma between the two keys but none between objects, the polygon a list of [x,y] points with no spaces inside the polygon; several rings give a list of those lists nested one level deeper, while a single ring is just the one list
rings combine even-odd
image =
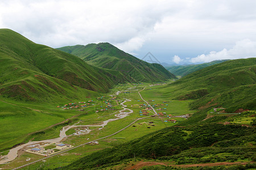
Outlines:
[{"label": "farthest hazy bluish-green ridge beyond the end of the valley", "polygon": [[212,65],[216,65],[217,63],[222,63],[224,61],[228,61],[228,59],[222,59],[222,60],[215,60],[208,63],[202,63],[199,65],[185,65],[185,66],[167,66],[166,69],[173,73],[176,76],[185,76],[190,73],[193,73],[194,71],[203,69],[205,67],[209,67]]}]

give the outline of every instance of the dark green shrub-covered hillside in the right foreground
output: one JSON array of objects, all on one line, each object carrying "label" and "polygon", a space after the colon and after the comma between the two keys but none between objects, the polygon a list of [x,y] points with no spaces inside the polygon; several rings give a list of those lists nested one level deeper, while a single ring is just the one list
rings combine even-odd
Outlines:
[{"label": "dark green shrub-covered hillside in the right foreground", "polygon": [[62,169],[102,169],[129,162],[134,154],[137,160],[158,159],[172,164],[255,160],[255,148],[248,145],[250,142],[255,142],[253,127],[221,124],[170,127],[95,152]]}]

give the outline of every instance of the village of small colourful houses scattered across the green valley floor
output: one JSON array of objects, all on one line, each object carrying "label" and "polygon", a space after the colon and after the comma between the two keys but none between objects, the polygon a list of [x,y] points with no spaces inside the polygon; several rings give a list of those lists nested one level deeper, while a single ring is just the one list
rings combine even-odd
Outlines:
[{"label": "village of small colourful houses scattered across the green valley floor", "polygon": [[[116,143],[128,141],[141,134],[151,133],[167,126],[174,126],[177,122],[192,116],[193,111],[184,112],[183,107],[177,109],[176,106],[181,104],[180,101],[164,101],[159,97],[151,96],[150,93],[147,93],[147,90],[153,87],[147,88],[148,86],[139,85],[141,84],[120,85],[105,96],[94,96],[90,97],[89,100],[70,101],[69,103],[59,103],[53,106],[58,110],[60,109],[60,111],[62,110],[61,113],[76,114],[77,116],[73,118],[75,121],[72,122],[72,125],[65,126],[65,133],[61,134],[63,139],[60,139],[60,141],[44,143],[43,145],[42,143],[32,144],[24,151],[47,157],[62,153],[72,147],[82,145],[82,143],[88,146],[96,145],[93,147],[97,147],[100,145],[99,142],[92,139],[97,139],[99,135],[104,136],[106,129],[117,127],[118,121],[115,120],[122,118],[124,118],[123,123],[130,124],[131,128],[122,129],[122,133],[113,135],[106,141],[115,141]],[[140,96],[140,93],[142,96]],[[83,113],[78,113],[81,111]],[[134,120],[138,122],[132,123]],[[71,126],[72,128],[70,128]],[[63,129],[56,129],[56,133],[61,130]],[[90,147],[86,148],[90,150]]]}]

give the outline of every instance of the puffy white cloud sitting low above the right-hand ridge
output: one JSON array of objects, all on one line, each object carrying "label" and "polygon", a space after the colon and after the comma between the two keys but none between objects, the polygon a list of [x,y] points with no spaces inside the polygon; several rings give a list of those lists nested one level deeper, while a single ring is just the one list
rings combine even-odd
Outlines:
[{"label": "puffy white cloud sitting low above the right-hand ridge", "polygon": [[201,54],[191,58],[192,63],[210,62],[217,59],[238,59],[256,57],[256,41],[249,39],[236,42],[236,45],[231,49],[224,48],[219,52],[210,52],[209,54]]}]

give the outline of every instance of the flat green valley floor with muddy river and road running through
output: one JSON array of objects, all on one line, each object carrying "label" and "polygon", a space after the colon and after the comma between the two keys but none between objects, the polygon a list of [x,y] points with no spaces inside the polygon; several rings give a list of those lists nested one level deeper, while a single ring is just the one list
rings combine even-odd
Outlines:
[{"label": "flat green valley floor with muddy river and road running through", "polygon": [[[3,159],[1,159],[0,162],[4,164],[1,164],[0,168],[11,169],[19,167],[20,165],[24,166],[35,162],[37,163],[30,165],[30,167],[42,166],[42,164],[45,165],[46,162],[48,162],[48,165],[51,164],[49,166],[52,168],[57,166],[63,166],[73,160],[81,158],[81,156],[90,154],[91,152],[97,150],[101,150],[102,148],[112,147],[114,145],[117,145],[118,143],[123,143],[126,141],[130,141],[131,139],[139,138],[142,135],[163,129],[167,126],[173,126],[177,124],[177,122],[185,120],[185,118],[180,117],[180,115],[193,113],[193,111],[188,111],[186,101],[168,101],[167,104],[167,101],[163,102],[164,99],[162,99],[160,96],[154,94],[150,95],[150,92],[148,92],[148,90],[151,90],[154,87],[155,86],[148,86],[146,84],[129,84],[126,86],[119,86],[115,88],[115,91],[112,92],[112,94],[114,95],[101,97],[103,99],[91,102],[91,104],[93,105],[84,108],[87,109],[85,111],[86,113],[82,112],[82,114],[76,114],[75,116],[72,116],[72,126],[67,125],[61,127],[62,124],[59,123],[55,124],[57,128],[55,128],[53,131],[46,131],[46,134],[51,132],[57,134],[57,129],[60,129],[60,134],[57,134],[60,136],[59,138],[47,139],[44,141],[38,140],[38,142],[36,142],[36,139],[44,139],[47,137],[49,138],[49,136],[47,136],[46,134],[43,134],[42,136],[36,135],[34,139],[32,139],[33,142],[20,145],[19,147],[14,147],[11,150],[13,152],[9,152],[8,156],[2,156]],[[116,91],[118,92],[116,93]],[[111,100],[113,98],[115,99]],[[102,110],[103,108],[102,105],[106,104],[104,103],[104,100],[105,102],[109,102],[108,104],[111,103],[111,107],[107,107],[108,109],[106,109],[105,111],[100,111],[100,109]],[[156,103],[162,104],[159,104],[159,106],[154,106],[156,105]],[[152,107],[152,105],[154,107]],[[176,110],[174,109],[175,106]],[[33,108],[29,108],[28,106],[22,107],[31,109],[33,111],[35,110]],[[145,108],[151,108],[148,111],[148,116],[140,116],[139,112],[141,112],[141,110]],[[58,111],[61,111],[61,109],[58,108]],[[118,111],[119,115],[117,114]],[[42,112],[42,110],[38,110],[37,112]],[[165,116],[158,116],[158,112],[166,113]],[[167,117],[167,115],[169,114],[172,114],[172,116],[177,121],[176,123],[167,122],[167,119],[169,118]],[[72,118],[69,118],[63,122],[71,120]],[[51,127],[55,126],[51,125]],[[86,133],[81,133],[81,131],[86,131]],[[81,134],[77,135],[79,133]],[[69,143],[74,145],[75,147],[65,152],[60,152],[58,155],[55,154],[46,158],[42,158],[42,156],[40,155],[24,152],[24,150],[30,148],[28,146],[34,146],[36,143],[40,143],[41,145],[43,145],[47,142],[53,142],[52,140],[55,140],[55,142],[61,141]],[[91,146],[90,143],[92,141],[99,141],[100,145]],[[4,153],[7,154],[7,152]],[[18,158],[16,158],[16,156],[18,156]],[[59,162],[59,157],[66,161],[63,162],[62,160],[61,162]],[[56,160],[58,163],[53,163],[56,162]]]}]

